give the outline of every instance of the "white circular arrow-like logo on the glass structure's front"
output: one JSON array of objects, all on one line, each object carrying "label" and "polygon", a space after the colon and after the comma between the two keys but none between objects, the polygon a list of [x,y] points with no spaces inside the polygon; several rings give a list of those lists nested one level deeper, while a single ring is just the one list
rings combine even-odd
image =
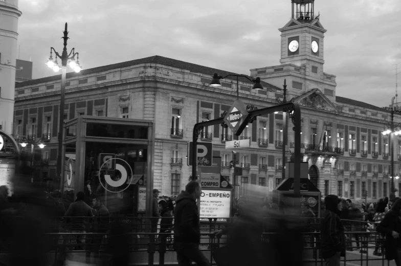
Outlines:
[{"label": "white circular arrow-like logo on the glass structure's front", "polygon": [[[100,184],[104,189],[106,189],[109,192],[122,192],[125,189],[128,188],[128,186],[131,184],[132,181],[132,169],[131,166],[128,164],[128,162],[124,161],[123,159],[120,158],[112,158],[106,160],[100,169],[103,169],[103,165],[105,163],[110,163],[110,161],[116,160],[116,171],[99,171],[99,181]],[[128,172],[129,170],[129,172]],[[104,180],[101,178],[101,172],[104,173]],[[129,179],[129,182],[127,183],[127,180]],[[103,184],[104,183],[104,184]],[[107,189],[107,187],[113,187],[113,190]]]}]

